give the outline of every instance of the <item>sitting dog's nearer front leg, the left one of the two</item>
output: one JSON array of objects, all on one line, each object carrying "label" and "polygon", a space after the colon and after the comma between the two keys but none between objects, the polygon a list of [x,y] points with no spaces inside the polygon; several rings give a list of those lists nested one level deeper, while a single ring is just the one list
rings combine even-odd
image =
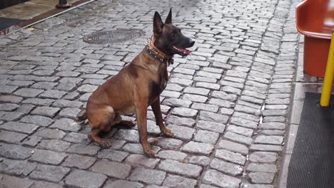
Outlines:
[{"label": "sitting dog's nearer front leg, the left one of the two", "polygon": [[139,140],[143,146],[143,152],[148,157],[158,157],[158,155],[153,152],[151,146],[148,144],[147,140],[147,105],[145,103],[136,103],[136,116],[137,116],[137,125],[139,132]]}]

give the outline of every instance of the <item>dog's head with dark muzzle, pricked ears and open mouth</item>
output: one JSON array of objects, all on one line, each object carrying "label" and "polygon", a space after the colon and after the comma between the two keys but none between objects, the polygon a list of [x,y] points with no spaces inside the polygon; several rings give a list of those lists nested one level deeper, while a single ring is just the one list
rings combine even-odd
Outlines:
[{"label": "dog's head with dark muzzle, pricked ears and open mouth", "polygon": [[163,23],[160,14],[158,14],[158,12],[154,14],[154,46],[170,56],[173,56],[174,54],[188,56],[190,51],[186,48],[191,48],[195,41],[192,41],[191,38],[183,36],[181,29],[173,26],[171,17],[170,10],[165,23]]}]

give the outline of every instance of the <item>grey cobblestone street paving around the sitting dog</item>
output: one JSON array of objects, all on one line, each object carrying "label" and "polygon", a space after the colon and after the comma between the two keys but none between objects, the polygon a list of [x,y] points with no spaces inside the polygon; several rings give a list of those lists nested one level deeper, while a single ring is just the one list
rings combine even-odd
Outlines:
[{"label": "grey cobblestone street paving around the sitting dog", "polygon": [[[299,36],[295,0],[98,0],[0,36],[0,187],[278,187]],[[137,127],[113,130],[102,149],[74,117],[98,85],[146,45],[153,14],[196,41],[176,56],[151,108],[147,158]],[[143,36],[91,44],[96,31]],[[108,40],[108,38],[105,38]],[[110,38],[109,38],[110,39]],[[124,117],[136,120],[136,116]]]}]

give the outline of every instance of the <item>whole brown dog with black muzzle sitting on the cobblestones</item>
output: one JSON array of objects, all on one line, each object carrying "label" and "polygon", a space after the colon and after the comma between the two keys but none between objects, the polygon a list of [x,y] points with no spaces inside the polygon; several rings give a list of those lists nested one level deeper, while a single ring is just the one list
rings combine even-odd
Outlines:
[{"label": "whole brown dog with black muzzle sitting on the cobblestones", "polygon": [[100,85],[88,98],[86,110],[81,110],[77,115],[77,121],[88,118],[91,125],[88,137],[102,147],[110,147],[108,140],[101,138],[99,133],[108,132],[112,127],[133,127],[133,122],[121,120],[121,115],[136,113],[143,152],[148,157],[156,157],[147,140],[147,108],[151,105],[161,132],[173,137],[173,132],[163,123],[160,94],[166,88],[167,66],[173,63],[173,55],[187,56],[190,51],[186,48],[194,43],[183,36],[180,28],[172,25],[171,10],[165,23],[156,12],[153,36],[148,45],[117,75]]}]

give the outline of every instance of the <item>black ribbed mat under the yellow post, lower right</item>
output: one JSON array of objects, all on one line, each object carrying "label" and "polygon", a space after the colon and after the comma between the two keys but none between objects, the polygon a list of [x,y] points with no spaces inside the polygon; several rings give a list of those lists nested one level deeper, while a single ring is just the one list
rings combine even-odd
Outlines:
[{"label": "black ribbed mat under the yellow post, lower right", "polygon": [[306,93],[291,155],[288,188],[334,187],[334,96],[329,108],[320,93]]}]

